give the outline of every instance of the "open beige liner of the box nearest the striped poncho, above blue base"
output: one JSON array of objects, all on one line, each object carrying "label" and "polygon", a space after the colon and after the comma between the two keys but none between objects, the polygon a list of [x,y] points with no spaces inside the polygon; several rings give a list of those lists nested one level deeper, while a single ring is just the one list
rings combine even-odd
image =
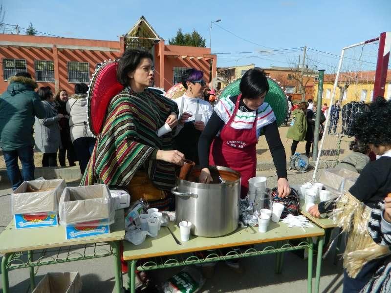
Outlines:
[{"label": "open beige liner of the box nearest the striped poncho, above blue base", "polygon": [[65,188],[59,214],[60,225],[66,226],[99,220],[107,220],[109,225],[114,223],[115,209],[109,188],[104,184]]}]

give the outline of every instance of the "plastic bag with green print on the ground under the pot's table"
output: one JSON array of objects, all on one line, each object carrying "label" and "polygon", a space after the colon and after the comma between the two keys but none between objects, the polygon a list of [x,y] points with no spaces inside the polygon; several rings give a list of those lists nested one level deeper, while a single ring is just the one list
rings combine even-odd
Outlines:
[{"label": "plastic bag with green print on the ground under the pot's table", "polygon": [[192,267],[185,267],[163,283],[164,293],[196,293],[205,284],[201,272]]}]

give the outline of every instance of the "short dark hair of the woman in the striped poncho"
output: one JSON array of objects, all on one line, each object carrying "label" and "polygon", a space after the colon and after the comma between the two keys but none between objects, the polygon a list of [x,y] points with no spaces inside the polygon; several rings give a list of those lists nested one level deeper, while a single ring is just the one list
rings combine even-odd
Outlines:
[{"label": "short dark hair of the woman in the striped poncho", "polygon": [[127,49],[118,61],[117,81],[123,86],[128,86],[130,81],[128,73],[136,70],[144,58],[153,59],[152,54],[143,49]]}]

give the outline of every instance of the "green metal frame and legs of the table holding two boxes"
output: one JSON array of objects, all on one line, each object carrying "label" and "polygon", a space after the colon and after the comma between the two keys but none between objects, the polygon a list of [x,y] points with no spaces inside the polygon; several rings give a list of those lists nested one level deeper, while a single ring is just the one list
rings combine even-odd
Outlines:
[{"label": "green metal frame and legs of the table holding two boxes", "polygon": [[[109,250],[105,248],[110,246]],[[80,246],[80,245],[79,245]],[[115,292],[121,293],[123,287],[119,241],[110,241],[105,243],[95,243],[84,245],[84,252],[72,251],[73,249],[82,249],[82,247],[69,246],[59,247],[55,249],[43,249],[36,251],[21,251],[5,253],[1,260],[1,281],[3,286],[3,293],[9,293],[9,279],[8,272],[17,269],[29,268],[30,271],[30,290],[35,288],[35,274],[34,268],[53,265],[59,263],[66,263],[78,260],[93,259],[100,257],[114,256],[114,272],[115,272]],[[87,253],[88,249],[93,249],[92,253]],[[60,253],[66,253],[66,257],[60,258]],[[53,255],[53,256],[52,256]],[[27,260],[22,258],[27,256]],[[47,260],[48,259],[48,260]]]}]

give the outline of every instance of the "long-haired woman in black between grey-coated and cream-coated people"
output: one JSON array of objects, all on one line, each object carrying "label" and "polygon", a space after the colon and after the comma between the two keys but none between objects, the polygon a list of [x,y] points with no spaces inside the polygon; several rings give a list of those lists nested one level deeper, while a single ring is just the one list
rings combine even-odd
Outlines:
[{"label": "long-haired woman in black between grey-coated and cream-coated people", "polygon": [[69,114],[65,109],[66,102],[68,101],[68,93],[64,89],[59,89],[54,97],[55,108],[59,114],[63,114],[64,117],[60,119],[60,136],[61,146],[58,151],[58,161],[61,167],[65,167],[65,154],[69,162],[69,166],[76,166],[76,154],[70,139],[69,132]]}]

